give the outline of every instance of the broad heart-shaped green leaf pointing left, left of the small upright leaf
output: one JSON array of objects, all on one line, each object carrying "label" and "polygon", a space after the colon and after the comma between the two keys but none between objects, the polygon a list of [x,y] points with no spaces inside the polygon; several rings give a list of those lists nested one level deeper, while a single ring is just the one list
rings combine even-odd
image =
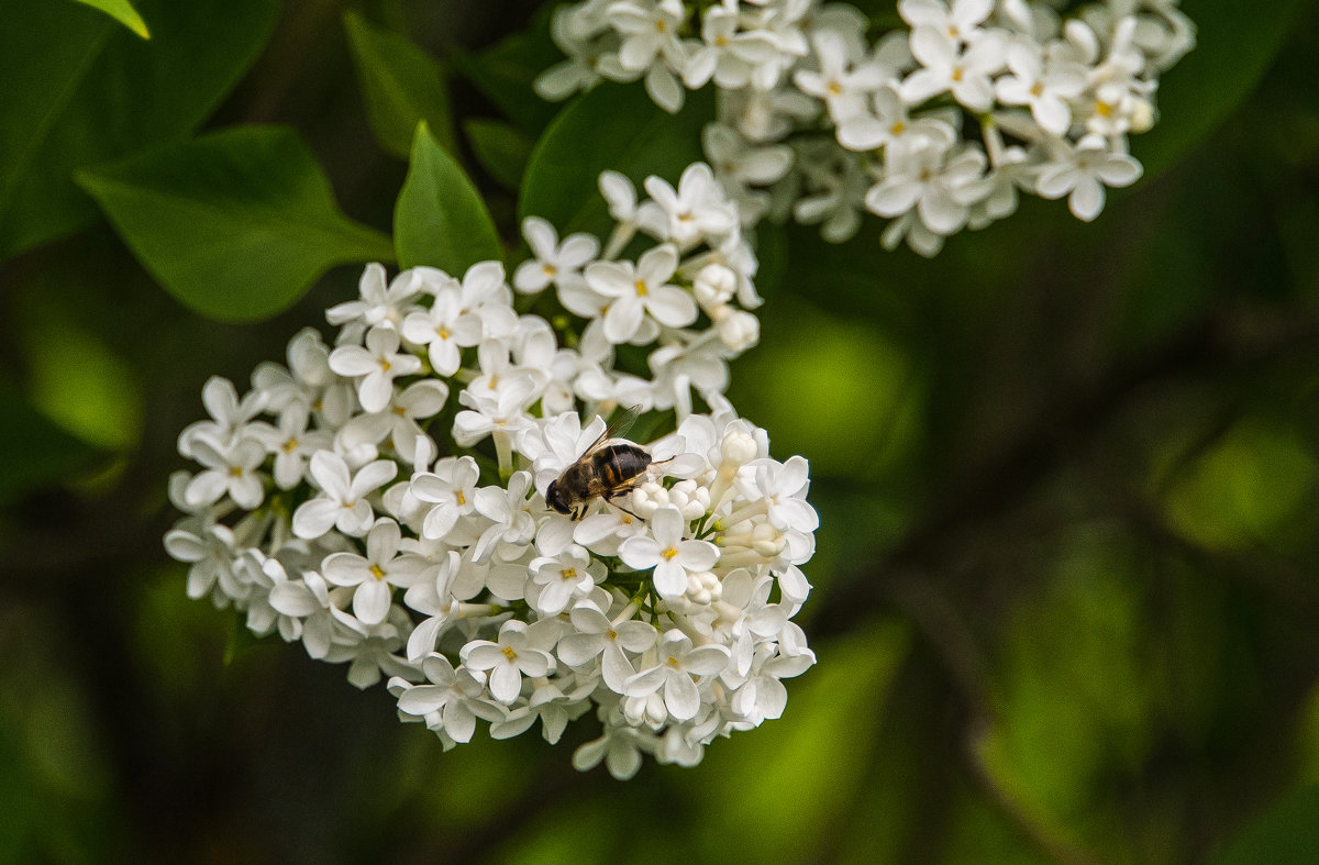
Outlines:
[{"label": "broad heart-shaped green leaf pointing left, left of the small upright leaf", "polygon": [[219,320],[269,318],[336,264],[389,261],[293,129],[236,127],[80,171],[152,276]]}]

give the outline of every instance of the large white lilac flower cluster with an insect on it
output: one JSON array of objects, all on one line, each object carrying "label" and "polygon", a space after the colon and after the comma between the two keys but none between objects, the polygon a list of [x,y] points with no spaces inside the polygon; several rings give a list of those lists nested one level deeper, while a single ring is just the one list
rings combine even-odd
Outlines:
[{"label": "large white lilac flower cluster with an insect on it", "polygon": [[[390,676],[400,717],[446,748],[479,719],[495,738],[539,720],[555,742],[594,709],[604,732],[572,762],[628,778],[641,753],[692,765],[782,713],[781,679],[815,662],[791,617],[818,518],[806,460],[770,458],[723,397],[725,359],[754,340],[736,306],[756,302],[754,257],[708,167],[678,190],[650,178],[641,203],[619,175],[601,189],[620,220],[604,257],[532,219],[536,258],[513,276],[528,295],[555,286],[584,320],[575,348],[559,336],[580,322],[518,315],[499,262],[462,280],[368,265],[360,298],[327,313],[332,345],[303,330],[247,394],[206,384],[210,418],[178,440],[200,469],[171,479],[187,516],[165,547],[191,597],[350,663],[357,687]],[[617,258],[638,229],[656,243]],[[650,349],[649,377],[617,368],[624,344]],[[617,407],[669,431],[600,444]],[[650,463],[621,494],[578,491],[579,520],[546,504],[617,447]]]}]

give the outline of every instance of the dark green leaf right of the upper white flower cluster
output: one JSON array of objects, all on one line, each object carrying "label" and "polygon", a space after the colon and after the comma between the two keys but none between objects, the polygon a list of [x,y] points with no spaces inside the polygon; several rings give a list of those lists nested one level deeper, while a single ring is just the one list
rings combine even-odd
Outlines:
[{"label": "dark green leaf right of the upper white flower cluster", "polygon": [[1186,0],[1196,47],[1159,79],[1159,120],[1132,141],[1146,178],[1170,167],[1216,129],[1282,50],[1302,0]]}]

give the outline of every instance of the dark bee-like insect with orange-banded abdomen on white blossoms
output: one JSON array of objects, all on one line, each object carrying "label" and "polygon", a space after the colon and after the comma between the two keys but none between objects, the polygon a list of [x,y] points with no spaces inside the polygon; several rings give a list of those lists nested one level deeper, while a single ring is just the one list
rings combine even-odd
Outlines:
[{"label": "dark bee-like insect with orange-banded abdomen on white blossoms", "polygon": [[[545,491],[545,502],[561,514],[580,520],[592,500],[604,498],[612,505],[615,498],[632,492],[645,480],[646,469],[656,464],[650,451],[628,439],[617,438],[628,431],[640,413],[640,407],[633,406],[611,423],[575,463],[565,468],[557,480],[550,481]],[[627,508],[613,506],[636,517]]]}]

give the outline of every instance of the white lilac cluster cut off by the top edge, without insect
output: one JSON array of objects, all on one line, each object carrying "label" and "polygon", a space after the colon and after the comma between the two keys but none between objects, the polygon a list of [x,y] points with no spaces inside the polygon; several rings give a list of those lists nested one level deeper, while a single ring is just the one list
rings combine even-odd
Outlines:
[{"label": "white lilac cluster cut off by the top edge, without insect", "polygon": [[872,44],[843,3],[584,0],[555,12],[568,59],[537,91],[644,76],[678,111],[683,87],[714,80],[706,158],[745,224],[790,214],[842,243],[869,211],[893,218],[885,247],[933,256],[1010,215],[1021,191],[1067,196],[1091,220],[1107,186],[1140,177],[1126,136],[1154,124],[1158,78],[1194,47],[1194,26],[1177,0],[1058,9],[1071,5],[898,0],[910,29]]}]

